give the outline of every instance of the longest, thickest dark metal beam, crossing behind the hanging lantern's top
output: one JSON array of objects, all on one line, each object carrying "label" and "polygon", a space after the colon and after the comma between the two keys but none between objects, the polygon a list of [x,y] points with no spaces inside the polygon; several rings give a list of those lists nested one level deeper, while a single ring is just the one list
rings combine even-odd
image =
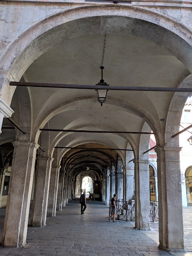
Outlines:
[{"label": "longest, thickest dark metal beam, crossing behind the hanging lantern's top", "polygon": [[70,88],[89,90],[121,90],[121,91],[153,91],[153,92],[192,92],[192,88],[172,87],[145,87],[145,86],[104,86],[104,85],[83,85],[83,84],[48,84],[48,83],[22,83],[10,82],[10,86],[46,87],[46,88]]}]

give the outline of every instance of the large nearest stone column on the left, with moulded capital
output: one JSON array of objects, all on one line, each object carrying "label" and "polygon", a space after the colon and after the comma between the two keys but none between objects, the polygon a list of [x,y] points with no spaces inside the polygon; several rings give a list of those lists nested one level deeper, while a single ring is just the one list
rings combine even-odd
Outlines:
[{"label": "large nearest stone column on the left, with moulded capital", "polygon": [[4,220],[4,246],[26,245],[32,182],[38,144],[16,141]]}]

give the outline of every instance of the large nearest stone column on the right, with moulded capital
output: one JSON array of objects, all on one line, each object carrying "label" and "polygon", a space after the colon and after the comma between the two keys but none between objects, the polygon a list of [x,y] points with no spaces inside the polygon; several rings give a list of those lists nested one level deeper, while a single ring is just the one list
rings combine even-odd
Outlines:
[{"label": "large nearest stone column on the right, with moulded capital", "polygon": [[158,146],[159,248],[184,251],[180,147]]}]

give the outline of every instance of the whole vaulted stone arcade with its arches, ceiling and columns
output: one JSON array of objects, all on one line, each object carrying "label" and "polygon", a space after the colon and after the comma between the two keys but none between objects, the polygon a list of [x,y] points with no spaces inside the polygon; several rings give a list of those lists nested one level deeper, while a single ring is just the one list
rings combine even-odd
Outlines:
[{"label": "whole vaulted stone arcade with its arches, ceiling and columns", "polygon": [[[135,190],[135,228],[149,230],[150,160],[156,197],[158,182],[159,248],[184,250],[184,149],[172,136],[192,84],[191,8],[190,1],[171,0],[0,2],[0,144],[14,140],[4,246],[26,245],[31,194],[31,225],[46,226],[46,216],[54,217],[79,194],[86,170],[105,204],[113,193],[128,201]],[[110,85],[186,92],[109,90],[101,107],[95,88],[10,86],[20,80],[96,84],[105,35]],[[144,154],[151,131],[156,153]]]}]

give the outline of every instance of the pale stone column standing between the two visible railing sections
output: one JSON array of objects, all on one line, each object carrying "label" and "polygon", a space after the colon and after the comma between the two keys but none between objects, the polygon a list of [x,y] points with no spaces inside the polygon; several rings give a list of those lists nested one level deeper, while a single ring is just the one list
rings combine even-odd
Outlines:
[{"label": "pale stone column standing between the two visible railing sections", "polygon": [[150,230],[149,161],[135,163],[135,228]]}]

